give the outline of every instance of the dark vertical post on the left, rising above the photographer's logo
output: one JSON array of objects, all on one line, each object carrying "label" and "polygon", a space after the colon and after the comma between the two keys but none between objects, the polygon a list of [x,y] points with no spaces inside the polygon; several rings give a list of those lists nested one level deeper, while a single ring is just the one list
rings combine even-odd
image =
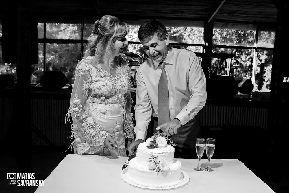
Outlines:
[{"label": "dark vertical post on the left, rising above the photographer's logo", "polygon": [[17,149],[21,172],[31,171],[31,10],[29,0],[18,1],[17,23]]}]

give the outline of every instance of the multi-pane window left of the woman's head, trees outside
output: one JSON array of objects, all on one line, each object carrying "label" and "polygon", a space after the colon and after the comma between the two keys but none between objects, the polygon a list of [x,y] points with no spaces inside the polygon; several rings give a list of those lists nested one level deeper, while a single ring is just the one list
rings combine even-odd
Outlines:
[{"label": "multi-pane window left of the woman's head, trees outside", "polygon": [[[44,29],[44,26],[45,29]],[[91,34],[91,24],[84,24],[83,36]],[[44,36],[46,34],[46,36]],[[35,72],[62,71],[68,68],[74,70],[81,59],[81,24],[71,23],[38,23],[39,63],[32,65],[31,82],[38,83],[39,77]],[[83,41],[84,49],[87,41]],[[45,69],[43,69],[45,68]]]}]

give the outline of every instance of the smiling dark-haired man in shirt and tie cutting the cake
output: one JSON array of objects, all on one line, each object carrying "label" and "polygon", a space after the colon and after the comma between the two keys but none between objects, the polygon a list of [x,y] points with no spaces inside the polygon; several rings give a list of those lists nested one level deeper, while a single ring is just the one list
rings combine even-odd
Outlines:
[{"label": "smiling dark-haired man in shirt and tie cutting the cake", "polygon": [[175,158],[197,158],[195,140],[200,126],[196,115],[207,98],[198,57],[187,50],[169,48],[168,32],[158,21],[144,22],[138,38],[149,58],[136,73],[136,140],[128,151],[132,154],[144,142],[152,115],[154,132],[165,132],[177,144]]}]

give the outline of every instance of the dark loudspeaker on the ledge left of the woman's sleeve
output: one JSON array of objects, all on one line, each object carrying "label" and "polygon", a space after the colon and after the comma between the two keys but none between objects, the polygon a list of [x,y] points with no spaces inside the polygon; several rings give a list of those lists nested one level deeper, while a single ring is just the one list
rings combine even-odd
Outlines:
[{"label": "dark loudspeaker on the ledge left of the woman's sleeve", "polygon": [[61,89],[68,84],[68,79],[61,71],[46,71],[40,79],[40,84],[49,89]]}]

